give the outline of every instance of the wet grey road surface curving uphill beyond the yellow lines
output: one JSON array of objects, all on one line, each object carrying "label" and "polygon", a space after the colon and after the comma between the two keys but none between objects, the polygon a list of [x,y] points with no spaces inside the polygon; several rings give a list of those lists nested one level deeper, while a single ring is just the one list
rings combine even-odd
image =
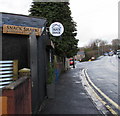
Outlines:
[{"label": "wet grey road surface curving uphill beyond the yellow lines", "polygon": [[76,67],[88,69],[91,81],[110,99],[118,104],[118,64],[114,56],[102,56],[98,60],[77,63]]}]

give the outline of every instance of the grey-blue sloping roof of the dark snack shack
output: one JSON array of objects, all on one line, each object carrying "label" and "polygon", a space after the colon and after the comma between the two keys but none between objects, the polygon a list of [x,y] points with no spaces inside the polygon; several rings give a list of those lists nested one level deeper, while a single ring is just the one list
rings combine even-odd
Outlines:
[{"label": "grey-blue sloping roof of the dark snack shack", "polygon": [[2,14],[2,25],[16,25],[25,27],[36,27],[41,28],[46,25],[47,20],[44,18],[31,17],[21,14],[12,13],[1,13]]}]

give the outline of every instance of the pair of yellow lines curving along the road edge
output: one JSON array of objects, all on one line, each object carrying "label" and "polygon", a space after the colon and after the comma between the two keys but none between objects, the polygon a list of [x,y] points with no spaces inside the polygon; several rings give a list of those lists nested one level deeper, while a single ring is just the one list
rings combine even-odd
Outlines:
[{"label": "pair of yellow lines curving along the road edge", "polygon": [[[108,96],[106,96],[98,87],[96,87],[94,85],[94,83],[90,80],[88,74],[87,74],[87,69],[84,70],[84,73],[86,75],[86,78],[88,80],[88,82],[92,85],[92,87],[97,90],[106,100],[108,100],[113,106],[116,107],[116,109],[120,110],[120,106],[115,103],[112,99],[110,99]],[[88,83],[88,86],[92,89],[92,87],[90,86],[90,84]],[[94,91],[94,90],[93,90]],[[118,113],[116,111],[114,111],[109,105],[107,105],[107,103],[105,101],[103,101],[98,95],[97,93],[94,91],[96,97],[105,105],[105,107],[113,114],[113,115],[118,115]]]}]

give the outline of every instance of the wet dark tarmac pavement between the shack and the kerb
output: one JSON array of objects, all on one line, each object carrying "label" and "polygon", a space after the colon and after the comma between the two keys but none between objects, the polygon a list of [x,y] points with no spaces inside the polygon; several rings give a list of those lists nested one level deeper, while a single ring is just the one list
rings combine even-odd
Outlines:
[{"label": "wet dark tarmac pavement between the shack and the kerb", "polygon": [[55,98],[47,99],[39,114],[100,114],[82,86],[80,68],[69,69],[55,84]]}]

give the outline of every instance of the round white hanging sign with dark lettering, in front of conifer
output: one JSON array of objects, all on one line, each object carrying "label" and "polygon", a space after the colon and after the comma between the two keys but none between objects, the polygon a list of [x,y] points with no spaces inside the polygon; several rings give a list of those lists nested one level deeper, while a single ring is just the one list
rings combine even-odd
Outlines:
[{"label": "round white hanging sign with dark lettering, in front of conifer", "polygon": [[64,32],[64,27],[61,23],[54,22],[50,25],[49,31],[53,36],[61,36]]}]

